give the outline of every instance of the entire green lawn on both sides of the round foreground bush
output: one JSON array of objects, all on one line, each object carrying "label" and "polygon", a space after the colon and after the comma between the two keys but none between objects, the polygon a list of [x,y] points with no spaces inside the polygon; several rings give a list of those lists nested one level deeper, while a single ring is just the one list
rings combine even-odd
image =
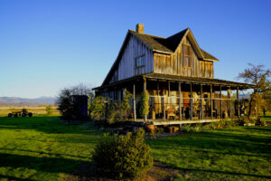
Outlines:
[{"label": "entire green lawn on both sides of the round foreground bush", "polygon": [[[268,118],[267,118],[268,119]],[[0,180],[62,180],[102,138],[91,123],[0,118]],[[176,180],[271,180],[271,127],[235,127],[147,140]]]}]

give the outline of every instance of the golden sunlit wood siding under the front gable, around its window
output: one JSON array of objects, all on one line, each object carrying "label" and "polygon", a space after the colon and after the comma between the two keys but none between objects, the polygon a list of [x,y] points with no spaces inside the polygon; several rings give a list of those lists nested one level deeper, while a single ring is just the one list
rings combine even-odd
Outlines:
[{"label": "golden sunlit wood siding under the front gable, around its window", "polygon": [[[190,66],[183,61],[182,43],[190,45],[191,47]],[[213,62],[199,60],[188,38],[184,38],[182,43],[176,52],[171,55],[154,53],[154,72],[189,77],[213,78]]]}]

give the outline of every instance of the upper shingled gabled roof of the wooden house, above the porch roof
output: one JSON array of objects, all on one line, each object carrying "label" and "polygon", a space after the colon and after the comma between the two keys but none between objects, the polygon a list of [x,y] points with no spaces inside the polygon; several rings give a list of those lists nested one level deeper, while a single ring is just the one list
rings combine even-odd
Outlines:
[{"label": "upper shingled gabled roof of the wooden house, above the porch roof", "polygon": [[191,40],[191,43],[195,48],[195,51],[197,52],[200,60],[219,62],[217,58],[212,56],[210,53],[203,51],[200,48],[189,28],[186,28],[179,33],[175,33],[168,38],[155,36],[147,33],[137,33],[133,30],[128,30],[128,32],[126,33],[125,41],[122,44],[120,51],[118,52],[117,59],[112,65],[110,71],[108,71],[107,77],[103,81],[102,85],[104,85],[107,81],[110,81],[108,79],[112,76],[112,74],[114,73],[113,70],[116,68],[118,62],[121,60],[122,54],[125,51],[126,44],[128,43],[131,35],[135,35],[136,38],[138,38],[142,43],[145,43],[145,45],[149,47],[153,52],[162,52],[165,54],[174,53],[182,43],[183,37],[187,35]]}]

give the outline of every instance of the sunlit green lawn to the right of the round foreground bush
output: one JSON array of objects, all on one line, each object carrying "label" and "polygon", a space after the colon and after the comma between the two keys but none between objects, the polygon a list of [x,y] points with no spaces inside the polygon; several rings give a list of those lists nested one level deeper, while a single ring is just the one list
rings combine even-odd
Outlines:
[{"label": "sunlit green lawn to the right of the round foreground bush", "polygon": [[148,140],[177,180],[271,180],[271,127],[235,127]]}]

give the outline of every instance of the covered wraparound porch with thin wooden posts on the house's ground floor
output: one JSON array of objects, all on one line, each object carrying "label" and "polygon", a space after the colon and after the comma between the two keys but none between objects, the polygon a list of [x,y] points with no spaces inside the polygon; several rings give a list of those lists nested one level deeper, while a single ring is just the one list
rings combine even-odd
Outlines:
[{"label": "covered wraparound porch with thin wooden posts on the house's ground floor", "polygon": [[234,81],[151,73],[117,81],[102,92],[111,100],[121,100],[125,89],[132,92],[131,119],[143,121],[137,111],[138,102],[142,91],[147,90],[150,97],[147,119],[163,125],[238,118],[246,114],[248,101],[239,97],[239,91],[251,88],[250,84]]}]

